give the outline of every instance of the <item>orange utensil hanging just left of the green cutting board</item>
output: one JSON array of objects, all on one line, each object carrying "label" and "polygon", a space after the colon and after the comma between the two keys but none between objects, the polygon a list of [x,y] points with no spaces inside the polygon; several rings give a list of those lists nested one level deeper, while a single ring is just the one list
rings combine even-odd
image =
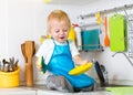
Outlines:
[{"label": "orange utensil hanging just left of the green cutting board", "polygon": [[104,17],[104,31],[105,31],[104,45],[109,46],[110,40],[109,40],[109,35],[108,35],[108,18],[106,17]]}]

